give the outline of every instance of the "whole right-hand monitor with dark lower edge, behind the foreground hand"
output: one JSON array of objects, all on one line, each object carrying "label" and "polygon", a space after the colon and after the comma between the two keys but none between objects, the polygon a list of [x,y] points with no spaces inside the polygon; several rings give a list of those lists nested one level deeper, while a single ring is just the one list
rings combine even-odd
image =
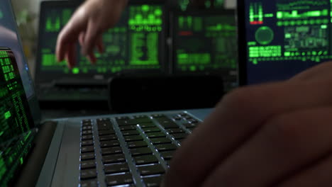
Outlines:
[{"label": "whole right-hand monitor with dark lower edge, behind the foreground hand", "polygon": [[331,1],[239,0],[240,84],[289,79],[332,59]]}]

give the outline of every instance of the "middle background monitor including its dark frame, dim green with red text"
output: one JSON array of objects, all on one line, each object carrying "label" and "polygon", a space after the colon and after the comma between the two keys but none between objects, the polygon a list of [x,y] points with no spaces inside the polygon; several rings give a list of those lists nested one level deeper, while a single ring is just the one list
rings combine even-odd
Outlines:
[{"label": "middle background monitor including its dark frame, dim green with red text", "polygon": [[235,12],[177,11],[172,21],[173,73],[222,75],[228,84],[236,86]]}]

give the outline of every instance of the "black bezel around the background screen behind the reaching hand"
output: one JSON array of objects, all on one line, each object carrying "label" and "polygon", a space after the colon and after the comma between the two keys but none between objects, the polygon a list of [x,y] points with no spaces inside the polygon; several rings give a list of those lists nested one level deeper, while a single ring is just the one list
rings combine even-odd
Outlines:
[{"label": "black bezel around the background screen behind the reaching hand", "polygon": [[[106,73],[106,74],[100,74],[100,73],[87,73],[87,74],[60,74],[59,72],[44,72],[40,69],[41,67],[41,46],[42,41],[39,39],[39,36],[43,33],[43,28],[45,26],[45,20],[43,15],[45,15],[45,11],[48,10],[48,8],[62,8],[62,7],[74,7],[78,8],[82,2],[80,1],[41,1],[40,2],[40,21],[39,21],[39,27],[38,27],[38,47],[36,52],[36,60],[35,60],[35,83],[37,86],[40,86],[40,84],[54,84],[55,81],[60,80],[96,80],[96,81],[102,81],[106,82],[107,79],[114,77],[118,74],[168,74],[169,69],[167,69],[167,61],[165,60],[165,55],[167,55],[167,46],[166,46],[166,38],[167,38],[167,6],[165,4],[165,1],[153,1],[153,0],[130,0],[128,1],[127,6],[130,5],[140,5],[140,4],[153,4],[153,5],[160,5],[162,6],[162,9],[164,11],[163,13],[163,23],[162,23],[162,32],[160,37],[160,69],[135,69],[135,70],[128,70],[125,72],[118,72],[118,73]],[[98,62],[97,62],[98,63]],[[60,75],[60,76],[59,76]]]}]

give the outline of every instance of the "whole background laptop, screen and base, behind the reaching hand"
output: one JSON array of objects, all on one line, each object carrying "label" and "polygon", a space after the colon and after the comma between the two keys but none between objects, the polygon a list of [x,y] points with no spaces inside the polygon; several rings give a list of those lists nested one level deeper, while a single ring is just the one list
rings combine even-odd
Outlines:
[{"label": "whole background laptop, screen and base, behind the reaching hand", "polygon": [[57,35],[81,1],[42,1],[35,84],[41,103],[96,103],[105,105],[109,92],[107,80],[118,74],[165,74],[165,22],[162,1],[128,2],[115,28],[103,35],[104,54],[96,52],[92,65],[80,55],[77,66],[68,69],[55,60]]}]

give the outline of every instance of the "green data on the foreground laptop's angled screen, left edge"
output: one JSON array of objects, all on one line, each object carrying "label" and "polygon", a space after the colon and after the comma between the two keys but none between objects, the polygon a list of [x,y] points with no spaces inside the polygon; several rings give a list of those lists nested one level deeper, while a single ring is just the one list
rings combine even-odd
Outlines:
[{"label": "green data on the foreground laptop's angled screen, left edge", "polygon": [[31,148],[33,122],[13,54],[0,51],[0,186],[10,186]]}]

